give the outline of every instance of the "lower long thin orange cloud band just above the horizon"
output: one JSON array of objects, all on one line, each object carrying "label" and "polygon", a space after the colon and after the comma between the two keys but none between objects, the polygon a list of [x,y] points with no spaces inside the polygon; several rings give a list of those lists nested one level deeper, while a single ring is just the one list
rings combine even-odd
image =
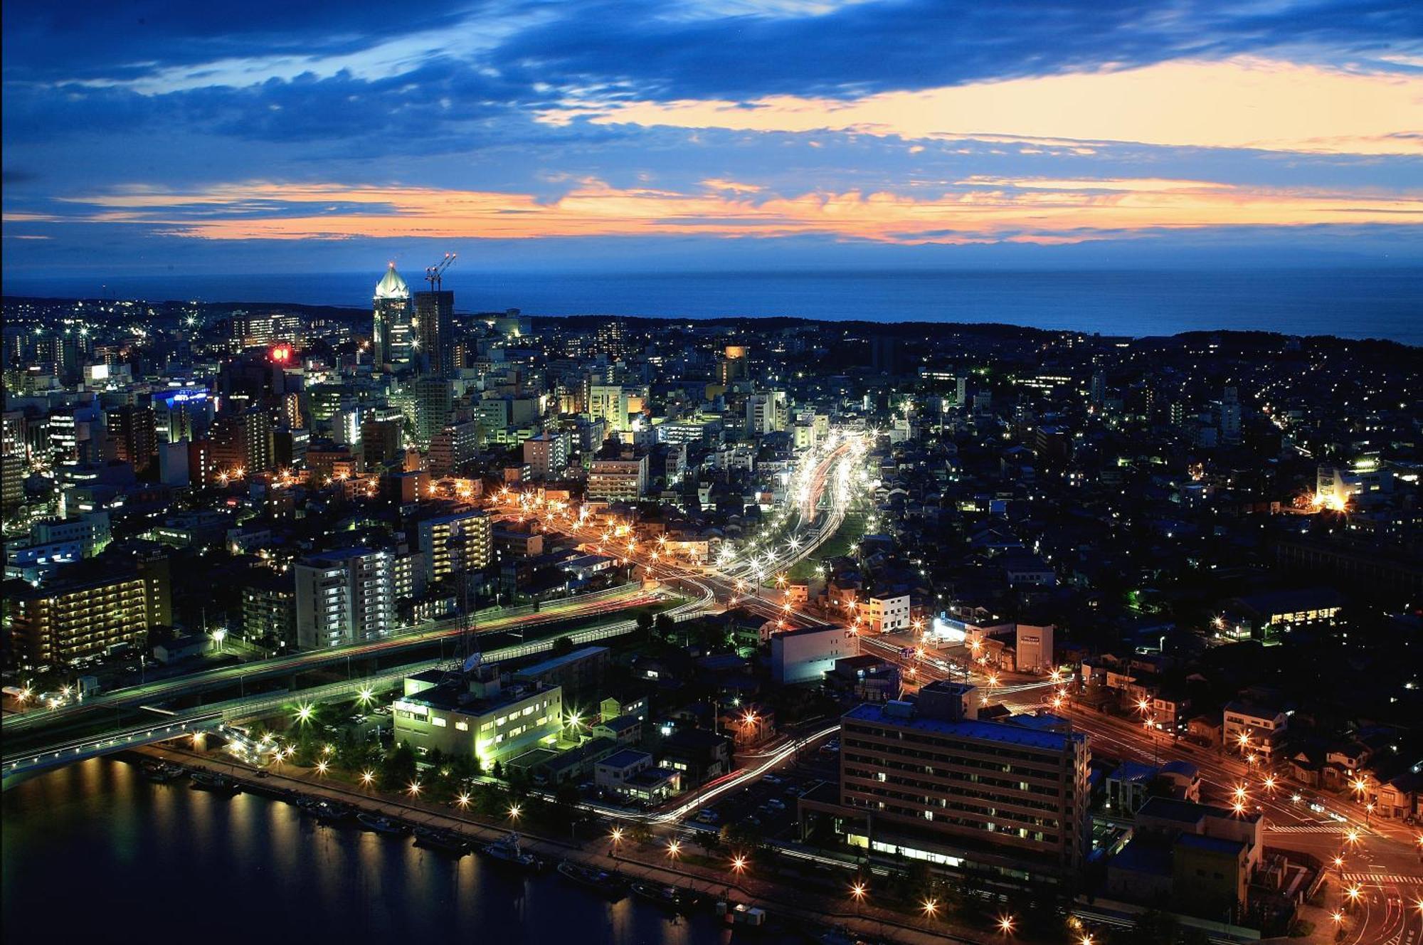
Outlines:
[{"label": "lower long thin orange cloud band just above the horizon", "polygon": [[898,243],[1080,242],[1104,233],[1204,226],[1423,222],[1412,195],[1259,191],[1143,179],[968,178],[936,196],[795,196],[618,189],[582,181],[564,196],[420,186],[249,182],[202,192],[152,188],[73,198],[70,219],[159,226],[198,239],[827,235]]}]

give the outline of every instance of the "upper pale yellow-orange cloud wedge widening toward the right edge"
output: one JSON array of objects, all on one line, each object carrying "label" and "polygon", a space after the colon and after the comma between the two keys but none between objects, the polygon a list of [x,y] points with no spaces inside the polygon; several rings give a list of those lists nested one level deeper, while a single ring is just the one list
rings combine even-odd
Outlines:
[{"label": "upper pale yellow-orange cloud wedge widening toward the right edge", "polygon": [[1423,154],[1423,75],[1274,60],[1173,61],[1111,73],[975,83],[851,101],[569,102],[545,122],[845,131],[911,139],[1133,141],[1328,154]]}]

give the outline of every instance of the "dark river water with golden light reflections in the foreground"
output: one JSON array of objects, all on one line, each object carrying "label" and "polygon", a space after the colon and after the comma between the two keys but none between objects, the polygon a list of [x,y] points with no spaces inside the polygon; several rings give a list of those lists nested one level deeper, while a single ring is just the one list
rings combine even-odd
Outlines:
[{"label": "dark river water with golden light reflections in the foreground", "polygon": [[655,905],[608,904],[556,874],[525,881],[408,837],[319,827],[280,801],[151,784],[121,761],[33,778],[7,790],[3,807],[7,942],[730,939],[710,914],[673,922]]}]

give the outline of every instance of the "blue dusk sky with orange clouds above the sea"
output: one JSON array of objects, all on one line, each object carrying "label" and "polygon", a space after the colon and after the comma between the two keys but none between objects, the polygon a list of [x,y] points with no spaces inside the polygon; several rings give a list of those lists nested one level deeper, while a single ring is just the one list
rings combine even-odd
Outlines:
[{"label": "blue dusk sky with orange clouds above the sea", "polygon": [[1417,3],[6,4],[4,273],[1417,263]]}]

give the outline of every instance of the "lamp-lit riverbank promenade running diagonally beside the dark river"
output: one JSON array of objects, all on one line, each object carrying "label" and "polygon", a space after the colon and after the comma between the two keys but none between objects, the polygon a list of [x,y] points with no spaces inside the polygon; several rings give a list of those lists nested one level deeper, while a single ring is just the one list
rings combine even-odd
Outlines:
[{"label": "lamp-lit riverbank promenade running diagonally beside the dark river", "polygon": [[[218,759],[199,751],[152,746],[141,754],[182,764],[188,769],[221,771],[245,784],[256,784],[256,770],[228,759]],[[283,787],[297,794],[327,798],[350,804],[361,811],[393,817],[416,825],[450,830],[475,844],[490,843],[508,835],[508,827],[481,821],[470,814],[453,811],[440,804],[420,801],[411,797],[396,797],[376,790],[357,790],[340,783],[322,780],[314,773],[296,769],[269,771],[260,778],[265,787]],[[519,831],[522,847],[548,860],[572,860],[602,870],[616,870],[629,880],[647,880],[663,885],[680,885],[694,889],[703,897],[727,898],[733,902],[766,909],[781,921],[808,925],[838,925],[854,935],[868,939],[894,941],[904,945],[942,945],[943,942],[965,942],[988,945],[989,936],[975,936],[962,929],[935,929],[928,924],[915,925],[899,912],[877,908],[872,904],[855,907],[848,901],[834,902],[824,897],[807,894],[804,889],[788,888],[785,884],[770,882],[750,875],[727,877],[713,874],[693,864],[669,864],[656,861],[625,844],[620,851],[612,851],[605,838],[585,843],[571,843],[546,835]]]}]

